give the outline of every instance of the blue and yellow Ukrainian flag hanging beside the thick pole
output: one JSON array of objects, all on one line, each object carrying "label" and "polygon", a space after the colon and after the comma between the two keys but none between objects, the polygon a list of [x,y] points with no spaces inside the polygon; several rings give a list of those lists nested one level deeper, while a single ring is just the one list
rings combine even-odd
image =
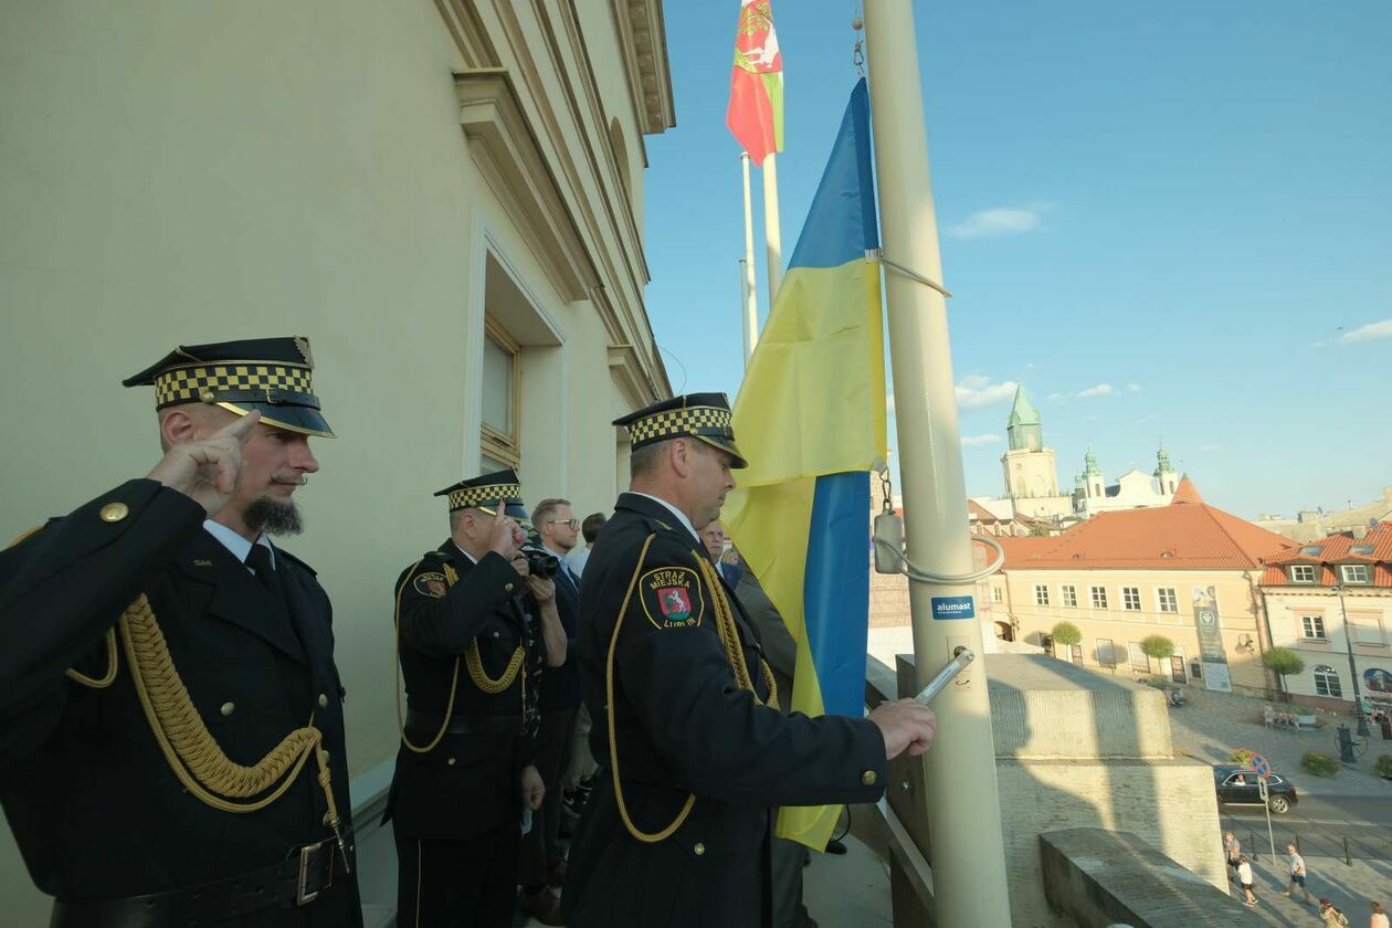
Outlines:
[{"label": "blue and yellow Ukrainian flag hanging beside the thick pole", "polygon": [[[791,705],[807,715],[864,708],[870,470],[887,454],[876,225],[862,79],[735,399],[749,467],[724,515],[798,641]],[[821,850],[838,811],[784,808],[778,833]]]}]

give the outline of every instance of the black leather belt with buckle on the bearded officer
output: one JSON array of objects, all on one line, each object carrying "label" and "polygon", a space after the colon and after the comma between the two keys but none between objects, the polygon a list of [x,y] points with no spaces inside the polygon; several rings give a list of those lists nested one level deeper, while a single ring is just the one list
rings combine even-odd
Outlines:
[{"label": "black leather belt with buckle on the bearded officer", "polygon": [[[348,835],[344,842],[351,846]],[[58,899],[49,928],[221,925],[266,909],[308,906],[333,886],[334,874],[344,872],[338,842],[327,838],[301,847],[274,867],[202,886],[129,899]]]}]

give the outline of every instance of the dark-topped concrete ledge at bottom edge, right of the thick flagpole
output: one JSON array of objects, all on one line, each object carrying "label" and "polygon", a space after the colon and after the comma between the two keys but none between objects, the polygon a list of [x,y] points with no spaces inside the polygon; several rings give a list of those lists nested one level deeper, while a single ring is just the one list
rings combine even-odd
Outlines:
[{"label": "dark-topped concrete ledge at bottom edge, right of the thick flagpole", "polygon": [[1246,909],[1130,832],[1040,835],[1044,895],[1079,928],[1229,928]]}]

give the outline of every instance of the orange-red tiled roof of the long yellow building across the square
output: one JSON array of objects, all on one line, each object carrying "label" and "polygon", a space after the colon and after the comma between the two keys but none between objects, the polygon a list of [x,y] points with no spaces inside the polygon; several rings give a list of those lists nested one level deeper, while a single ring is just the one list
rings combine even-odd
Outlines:
[{"label": "orange-red tiled roof of the long yellow building across the square", "polygon": [[1051,538],[999,538],[1005,569],[1236,569],[1282,557],[1295,544],[1210,506],[1187,479],[1168,506],[1102,512]]}]

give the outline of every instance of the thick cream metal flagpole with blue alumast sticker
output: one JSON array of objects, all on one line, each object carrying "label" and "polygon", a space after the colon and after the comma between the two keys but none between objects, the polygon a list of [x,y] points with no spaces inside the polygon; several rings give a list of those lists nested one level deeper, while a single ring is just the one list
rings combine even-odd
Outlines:
[{"label": "thick cream metal flagpole with blue alumast sticker", "polygon": [[[920,575],[965,577],[976,568],[913,6],[866,0],[864,22],[908,561]],[[974,587],[909,584],[920,689],[956,648],[986,654]],[[1011,924],[984,664],[967,665],[938,697],[938,736],[923,755],[937,924],[952,928]]]}]

